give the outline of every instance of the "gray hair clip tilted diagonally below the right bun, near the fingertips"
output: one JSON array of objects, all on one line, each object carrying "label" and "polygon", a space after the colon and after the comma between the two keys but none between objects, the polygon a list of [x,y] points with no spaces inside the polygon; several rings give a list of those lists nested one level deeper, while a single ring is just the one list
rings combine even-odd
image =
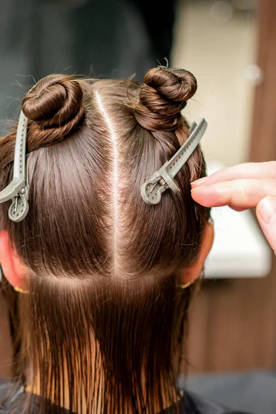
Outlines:
[{"label": "gray hair clip tilted diagonally below the right bun, near the fingertips", "polygon": [[146,183],[141,185],[141,196],[146,204],[158,204],[161,200],[161,194],[170,188],[174,193],[180,193],[180,190],[174,180],[177,172],[181,170],[190,155],[197,148],[199,141],[204,135],[207,128],[205,119],[201,119],[197,125],[195,122],[190,126],[190,137],[179,148],[171,159],[166,161],[160,170],[155,171]]}]

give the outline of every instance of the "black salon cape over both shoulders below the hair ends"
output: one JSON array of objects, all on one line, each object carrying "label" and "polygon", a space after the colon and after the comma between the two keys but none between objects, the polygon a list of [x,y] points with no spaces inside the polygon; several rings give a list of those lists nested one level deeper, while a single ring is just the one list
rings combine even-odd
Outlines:
[{"label": "black salon cape over both shoulders below the hair ends", "polygon": [[[14,397],[12,397],[12,402],[2,402],[6,398],[11,385],[12,384],[10,382],[0,382],[0,414],[20,414],[22,411],[23,386],[19,386],[15,391],[13,391],[12,395],[14,395]],[[37,397],[34,401],[30,414],[38,413],[39,398],[40,397]],[[190,392],[183,392],[183,397],[181,397],[178,404],[180,414],[248,414],[242,411],[229,410],[213,402],[203,400],[198,395]],[[14,409],[16,411],[14,411]],[[52,405],[50,412],[51,414],[55,414],[57,412],[54,405]],[[167,408],[164,411],[164,414],[170,414],[171,412],[171,408]],[[63,414],[68,414],[68,411],[64,409]]]}]

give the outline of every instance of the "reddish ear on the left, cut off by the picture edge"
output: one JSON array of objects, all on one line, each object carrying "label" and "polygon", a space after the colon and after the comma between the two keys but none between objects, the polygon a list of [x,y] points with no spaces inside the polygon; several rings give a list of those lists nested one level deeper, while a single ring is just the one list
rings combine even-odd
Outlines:
[{"label": "reddish ear on the left, cut off by the picture edge", "polygon": [[26,290],[28,267],[21,262],[10,243],[7,230],[0,231],[0,264],[8,282],[14,287]]}]

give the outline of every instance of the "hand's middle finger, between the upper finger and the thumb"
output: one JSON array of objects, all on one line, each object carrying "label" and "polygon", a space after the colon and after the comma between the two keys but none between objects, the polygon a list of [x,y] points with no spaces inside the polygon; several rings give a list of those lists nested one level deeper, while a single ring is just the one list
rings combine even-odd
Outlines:
[{"label": "hand's middle finger, between the upper finger and the thumb", "polygon": [[276,180],[237,179],[192,188],[191,194],[205,207],[252,208],[264,197],[276,196]]}]

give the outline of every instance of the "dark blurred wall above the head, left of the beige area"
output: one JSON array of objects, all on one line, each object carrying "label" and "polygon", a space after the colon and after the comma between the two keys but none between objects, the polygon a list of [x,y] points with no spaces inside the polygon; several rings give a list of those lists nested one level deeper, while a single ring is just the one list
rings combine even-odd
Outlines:
[{"label": "dark blurred wall above the head, left of the beige area", "polygon": [[28,86],[52,72],[136,73],[141,81],[170,57],[173,0],[166,8],[156,0],[1,0],[0,8],[0,120],[19,108],[16,82]]}]

